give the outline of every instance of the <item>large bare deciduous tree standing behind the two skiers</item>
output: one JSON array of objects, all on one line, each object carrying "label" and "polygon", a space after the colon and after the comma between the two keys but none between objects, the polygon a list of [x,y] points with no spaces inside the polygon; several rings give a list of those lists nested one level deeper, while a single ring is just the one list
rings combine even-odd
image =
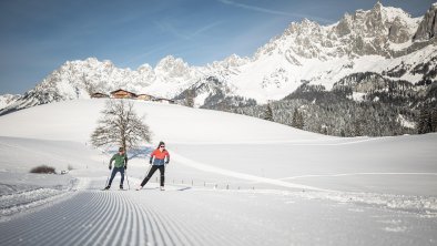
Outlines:
[{"label": "large bare deciduous tree standing behind the two skiers", "polygon": [[99,125],[91,134],[92,145],[115,144],[128,150],[135,148],[142,141],[151,142],[149,126],[133,111],[132,102],[110,100],[101,113]]}]

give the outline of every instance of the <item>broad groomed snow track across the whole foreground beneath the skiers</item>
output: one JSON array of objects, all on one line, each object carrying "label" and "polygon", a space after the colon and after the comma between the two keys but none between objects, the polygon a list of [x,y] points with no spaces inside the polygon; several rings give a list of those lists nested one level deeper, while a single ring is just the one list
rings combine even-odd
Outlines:
[{"label": "broad groomed snow track across the whole foreground beneath the skiers", "polygon": [[429,238],[437,226],[433,216],[321,203],[293,192],[182,185],[161,192],[155,183],[142,191],[100,191],[102,184],[85,180],[69,197],[0,223],[0,245],[431,245],[437,239]]}]

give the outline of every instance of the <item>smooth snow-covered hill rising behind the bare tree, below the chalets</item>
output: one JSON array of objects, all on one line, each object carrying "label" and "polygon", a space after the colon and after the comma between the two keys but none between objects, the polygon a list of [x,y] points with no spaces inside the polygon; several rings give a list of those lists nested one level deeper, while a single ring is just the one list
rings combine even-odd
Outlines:
[{"label": "smooth snow-covered hill rising behind the bare tree, below the chalets", "polygon": [[[75,100],[34,106],[0,117],[0,135],[88,142],[106,100]],[[155,142],[226,143],[331,139],[240,114],[131,101]],[[53,127],[55,125],[57,127]],[[200,134],[201,133],[201,134]],[[220,134],[217,134],[220,133]]]}]

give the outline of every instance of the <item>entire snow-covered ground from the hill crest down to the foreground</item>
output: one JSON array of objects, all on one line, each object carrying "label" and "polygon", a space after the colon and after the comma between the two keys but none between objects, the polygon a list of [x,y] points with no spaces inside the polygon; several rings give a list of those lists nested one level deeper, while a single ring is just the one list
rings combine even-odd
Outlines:
[{"label": "entire snow-covered ground from the hill crest down to the foreground", "polygon": [[[134,102],[153,144],[130,191],[100,191],[104,100],[0,116],[0,245],[436,245],[436,134],[337,139],[216,111]],[[134,191],[165,141],[166,191]],[[29,174],[47,164],[65,175]]]}]

